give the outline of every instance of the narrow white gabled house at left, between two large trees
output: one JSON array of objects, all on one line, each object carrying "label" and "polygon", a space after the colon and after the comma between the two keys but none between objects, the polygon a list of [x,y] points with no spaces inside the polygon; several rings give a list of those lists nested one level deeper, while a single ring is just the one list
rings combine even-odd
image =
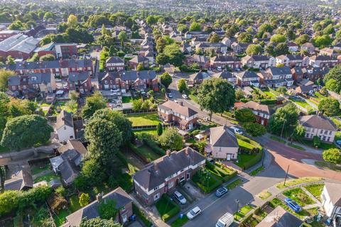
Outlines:
[{"label": "narrow white gabled house at left, between two large trees", "polygon": [[57,116],[55,131],[58,133],[60,143],[65,143],[67,140],[75,139],[75,128],[73,126],[72,114],[67,111],[61,111]]}]

